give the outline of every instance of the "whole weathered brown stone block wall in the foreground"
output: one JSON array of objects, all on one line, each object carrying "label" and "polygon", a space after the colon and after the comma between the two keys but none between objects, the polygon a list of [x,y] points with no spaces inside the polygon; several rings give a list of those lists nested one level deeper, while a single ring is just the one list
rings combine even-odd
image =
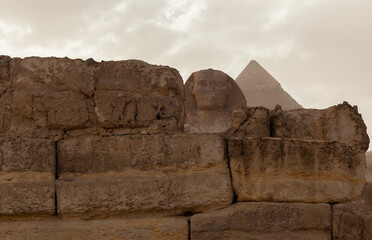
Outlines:
[{"label": "whole weathered brown stone block wall in the foreground", "polygon": [[371,239],[356,107],[183,131],[177,70],[0,57],[0,239]]}]

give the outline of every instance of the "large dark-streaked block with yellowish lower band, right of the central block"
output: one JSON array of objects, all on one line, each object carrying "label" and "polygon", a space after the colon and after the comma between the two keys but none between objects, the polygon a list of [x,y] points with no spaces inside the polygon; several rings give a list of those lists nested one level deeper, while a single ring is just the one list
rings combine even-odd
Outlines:
[{"label": "large dark-streaked block with yellowish lower band, right of the central block", "polygon": [[342,143],[232,138],[228,148],[239,201],[344,202],[365,182],[364,154]]}]

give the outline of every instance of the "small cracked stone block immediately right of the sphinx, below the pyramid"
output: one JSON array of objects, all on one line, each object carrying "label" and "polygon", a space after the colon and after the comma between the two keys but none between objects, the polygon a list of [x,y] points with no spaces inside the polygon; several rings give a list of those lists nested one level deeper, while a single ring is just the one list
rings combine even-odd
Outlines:
[{"label": "small cracked stone block immediately right of the sphinx, below the pyramid", "polygon": [[227,136],[270,137],[270,112],[264,107],[244,107],[232,113]]}]

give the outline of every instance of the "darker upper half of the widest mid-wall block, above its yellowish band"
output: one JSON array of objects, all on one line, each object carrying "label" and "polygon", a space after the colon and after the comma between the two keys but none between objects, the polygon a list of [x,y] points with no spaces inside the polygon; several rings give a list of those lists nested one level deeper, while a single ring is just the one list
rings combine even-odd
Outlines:
[{"label": "darker upper half of the widest mid-wall block, above its yellowish band", "polygon": [[213,167],[227,168],[225,142],[215,134],[83,136],[58,143],[59,173]]}]

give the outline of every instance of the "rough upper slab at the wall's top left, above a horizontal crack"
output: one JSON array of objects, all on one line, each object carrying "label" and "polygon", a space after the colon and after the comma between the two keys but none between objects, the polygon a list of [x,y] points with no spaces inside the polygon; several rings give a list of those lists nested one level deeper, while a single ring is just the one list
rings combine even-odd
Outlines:
[{"label": "rough upper slab at the wall's top left, above a horizontal crack", "polygon": [[11,87],[23,90],[94,92],[95,67],[80,59],[27,57],[11,61]]}]

